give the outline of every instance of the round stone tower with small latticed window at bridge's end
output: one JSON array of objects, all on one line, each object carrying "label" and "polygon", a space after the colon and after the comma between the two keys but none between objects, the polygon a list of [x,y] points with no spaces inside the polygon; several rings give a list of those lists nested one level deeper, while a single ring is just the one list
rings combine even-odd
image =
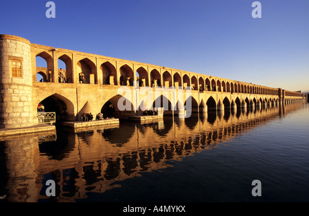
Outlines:
[{"label": "round stone tower with small latticed window at bridge's end", "polygon": [[34,125],[30,41],[0,34],[0,128]]}]

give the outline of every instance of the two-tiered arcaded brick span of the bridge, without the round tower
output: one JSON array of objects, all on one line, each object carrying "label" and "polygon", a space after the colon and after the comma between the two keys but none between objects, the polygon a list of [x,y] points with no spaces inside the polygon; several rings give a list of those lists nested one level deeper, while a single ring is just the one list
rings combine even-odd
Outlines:
[{"label": "two-tiered arcaded brick span of the bridge, without the round tower", "polygon": [[[47,62],[46,68],[36,67],[38,56]],[[34,112],[39,103],[47,110],[58,107],[60,118],[67,121],[80,120],[84,112],[135,115],[163,106],[165,114],[175,114],[304,101],[302,93],[282,88],[44,45],[31,44],[31,59]],[[36,73],[43,82],[37,82]],[[121,99],[125,109],[119,108]]]}]

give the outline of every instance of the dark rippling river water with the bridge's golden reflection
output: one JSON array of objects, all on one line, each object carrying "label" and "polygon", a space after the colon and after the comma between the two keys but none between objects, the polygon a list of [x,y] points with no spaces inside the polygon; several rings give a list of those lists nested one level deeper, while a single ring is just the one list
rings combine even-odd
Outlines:
[{"label": "dark rippling river water with the bridge's golden reflection", "polygon": [[308,127],[288,104],[12,136],[0,202],[309,202]]}]

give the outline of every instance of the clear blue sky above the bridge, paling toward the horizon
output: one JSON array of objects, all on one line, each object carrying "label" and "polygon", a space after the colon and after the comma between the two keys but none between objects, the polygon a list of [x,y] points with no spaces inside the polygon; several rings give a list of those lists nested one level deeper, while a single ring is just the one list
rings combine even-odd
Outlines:
[{"label": "clear blue sky above the bridge, paling toward the horizon", "polygon": [[309,1],[0,0],[0,34],[290,91],[309,90]]}]

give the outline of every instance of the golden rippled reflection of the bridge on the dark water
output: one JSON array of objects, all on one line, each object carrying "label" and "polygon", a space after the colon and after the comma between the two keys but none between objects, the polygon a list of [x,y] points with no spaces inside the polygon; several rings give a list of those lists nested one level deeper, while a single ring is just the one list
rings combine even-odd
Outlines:
[{"label": "golden rippled reflection of the bridge on the dark water", "polygon": [[195,152],[217,147],[220,142],[231,141],[237,134],[299,107],[302,104],[218,115],[208,112],[208,115],[192,115],[190,119],[165,117],[163,128],[158,123],[121,123],[119,128],[65,131],[66,136],[45,143],[34,134],[4,140],[8,200],[47,199],[45,181],[54,179],[56,200],[74,202],[87,197],[88,191],[102,193],[119,187],[115,182],[169,167],[168,160],[182,160]]}]

